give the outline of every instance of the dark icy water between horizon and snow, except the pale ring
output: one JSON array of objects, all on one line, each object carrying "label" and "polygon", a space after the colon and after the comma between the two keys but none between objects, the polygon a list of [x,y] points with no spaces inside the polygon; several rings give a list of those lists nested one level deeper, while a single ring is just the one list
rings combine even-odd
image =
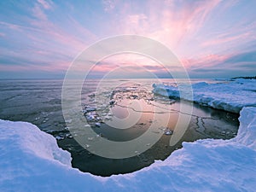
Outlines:
[{"label": "dark icy water between horizon and snow, except the pale ring", "polygon": [[[189,128],[179,143],[170,146],[169,142],[172,135],[163,133],[166,127],[173,130],[180,113],[180,103],[165,97],[152,95],[151,85],[155,83],[154,79],[138,79],[136,81],[139,83],[131,84],[130,80],[109,79],[103,82],[103,87],[98,89],[98,95],[93,95],[97,90],[98,81],[91,79],[85,82],[84,90],[82,90],[84,107],[91,105],[91,107],[97,108],[96,113],[105,121],[105,123],[101,123],[100,127],[96,126],[96,121],[91,122],[94,131],[99,137],[106,137],[113,141],[127,141],[143,135],[148,130],[148,126],[154,121],[154,114],[151,113],[153,109],[159,112],[162,119],[170,118],[168,125],[159,126],[152,132],[157,135],[161,134],[160,140],[154,145],[148,143],[149,149],[147,151],[132,158],[123,160],[102,158],[91,154],[73,139],[62,117],[62,82],[59,80],[0,81],[0,117],[1,119],[21,120],[38,125],[42,131],[52,134],[58,140],[61,148],[67,149],[72,154],[74,167],[83,172],[91,172],[101,176],[135,172],[151,165],[154,160],[165,160],[172,151],[176,148],[181,148],[183,141],[193,142],[204,138],[229,139],[235,137],[238,129],[238,114],[194,104]],[[165,81],[168,84],[173,83],[172,79],[166,79]],[[201,79],[198,81],[201,81]],[[115,92],[112,98],[115,104],[110,108],[109,99],[113,90],[109,90],[109,87],[112,84],[121,84],[123,88],[129,88],[130,90],[138,89],[135,92]],[[122,86],[119,86],[120,90],[122,90]],[[130,102],[140,103],[143,108],[130,105]],[[187,105],[189,106],[190,103],[187,102]],[[139,112],[129,109],[127,106],[139,109]],[[113,117],[124,119],[127,117],[127,113],[134,113],[135,116],[140,117],[139,121],[131,126],[130,129],[120,130],[107,124],[111,122]],[[86,126],[84,126],[84,129],[86,129]],[[87,137],[84,138],[88,139]],[[135,148],[134,150],[136,151],[137,149]]]}]

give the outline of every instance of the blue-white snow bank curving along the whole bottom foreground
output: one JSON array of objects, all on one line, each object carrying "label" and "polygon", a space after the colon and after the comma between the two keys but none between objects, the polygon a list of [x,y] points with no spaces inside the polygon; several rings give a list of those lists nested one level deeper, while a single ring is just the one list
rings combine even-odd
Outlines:
[{"label": "blue-white snow bank curving along the whole bottom foreground", "polygon": [[0,191],[254,191],[256,108],[243,108],[240,122],[234,139],[183,143],[165,161],[103,178],[73,169],[37,126],[0,120]]}]

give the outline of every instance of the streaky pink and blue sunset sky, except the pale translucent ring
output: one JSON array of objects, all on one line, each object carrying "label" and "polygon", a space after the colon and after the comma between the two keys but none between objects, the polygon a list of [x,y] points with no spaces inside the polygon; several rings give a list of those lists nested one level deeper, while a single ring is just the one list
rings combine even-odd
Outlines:
[{"label": "streaky pink and blue sunset sky, except the pale translucent ring", "polygon": [[[84,49],[124,34],[166,45],[190,78],[256,76],[255,8],[254,0],[0,1],[0,79],[62,79]],[[114,70],[168,77],[160,63],[132,54],[112,55],[90,73]]]}]

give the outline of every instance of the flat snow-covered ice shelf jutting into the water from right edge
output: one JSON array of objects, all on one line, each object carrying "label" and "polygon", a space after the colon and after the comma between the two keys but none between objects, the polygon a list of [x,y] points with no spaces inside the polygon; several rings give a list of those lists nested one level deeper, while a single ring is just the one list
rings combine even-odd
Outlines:
[{"label": "flat snow-covered ice shelf jutting into the water from right edge", "polygon": [[[187,84],[179,89],[184,91],[183,99],[191,100],[191,93],[186,92]],[[153,84],[154,93],[162,96],[179,97],[176,86]],[[207,84],[205,82],[192,84],[193,101],[212,108],[239,113],[245,106],[256,107],[256,79],[236,79],[223,84]]]}]

